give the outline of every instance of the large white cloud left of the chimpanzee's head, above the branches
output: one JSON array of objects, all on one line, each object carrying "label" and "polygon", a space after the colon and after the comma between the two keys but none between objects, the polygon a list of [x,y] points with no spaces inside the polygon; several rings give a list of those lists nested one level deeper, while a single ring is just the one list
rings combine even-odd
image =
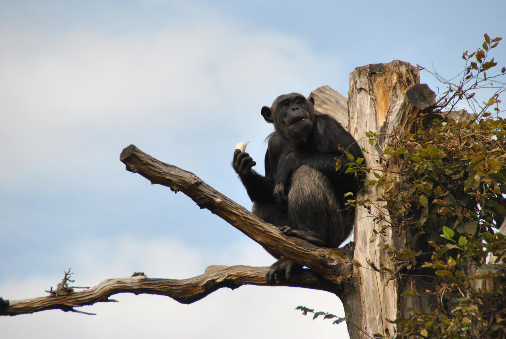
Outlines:
[{"label": "large white cloud left of the chimpanzee's head, above the branches", "polygon": [[[238,130],[263,139],[270,126],[260,107],[278,94],[309,94],[338,68],[299,38],[205,19],[152,35],[4,29],[0,156],[12,161],[0,164],[2,178],[25,181],[34,164],[82,166],[120,139],[162,145]],[[172,147],[201,144],[191,142]]]}]

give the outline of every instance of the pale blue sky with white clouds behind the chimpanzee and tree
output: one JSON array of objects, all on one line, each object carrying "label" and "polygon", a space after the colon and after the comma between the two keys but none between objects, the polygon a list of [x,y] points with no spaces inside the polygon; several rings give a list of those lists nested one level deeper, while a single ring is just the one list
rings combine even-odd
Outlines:
[{"label": "pale blue sky with white clouds behind the chimpanzee and tree", "polygon": [[[126,172],[122,148],[135,144],[249,208],[230,161],[235,143],[250,141],[263,172],[272,126],[262,106],[326,84],[346,96],[355,67],[394,59],[451,77],[484,33],[505,35],[504,10],[503,1],[0,2],[0,295],[43,296],[69,267],[76,285],[93,286],[134,271],[187,278],[212,264],[270,265],[188,197]],[[501,65],[505,51],[494,51]],[[293,311],[343,315],[321,291],[245,286],[193,305],[117,299],[86,308],[93,317],[47,311],[0,326],[11,337],[235,337],[251,324],[258,333],[244,337],[346,333]]]}]

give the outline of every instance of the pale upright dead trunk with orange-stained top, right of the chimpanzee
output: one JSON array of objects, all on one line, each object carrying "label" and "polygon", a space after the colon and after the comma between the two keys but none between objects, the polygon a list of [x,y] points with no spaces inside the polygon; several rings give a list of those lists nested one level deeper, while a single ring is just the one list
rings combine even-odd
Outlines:
[{"label": "pale upright dead trunk with orange-stained top, right of the chimpanzee", "polygon": [[[412,119],[427,112],[434,104],[434,92],[419,81],[418,68],[398,60],[358,67],[350,74],[349,132],[365,150],[367,165],[378,174],[397,172],[395,165],[385,168],[382,164],[383,150],[393,136],[412,130]],[[406,95],[408,89],[412,89],[409,96]],[[364,138],[366,132],[379,136],[374,145]],[[371,174],[368,176],[369,180],[374,179]],[[362,266],[354,267],[353,271],[359,298],[355,304],[360,305],[355,309],[360,316],[354,316],[360,318],[356,321],[360,321],[362,331],[348,326],[351,338],[393,336],[396,328],[389,320],[404,315],[404,310],[411,306],[406,305],[407,299],[400,296],[404,291],[411,290],[416,281],[397,277],[391,279],[392,275],[382,269],[395,271],[396,267],[387,252],[380,248],[388,245],[402,249],[405,243],[388,228],[385,202],[378,201],[386,189],[376,185],[358,197],[369,199],[370,204],[358,206],[356,212],[354,259]],[[418,290],[425,291],[425,288]],[[411,300],[415,303],[420,301],[411,298],[407,302],[412,303]]]}]

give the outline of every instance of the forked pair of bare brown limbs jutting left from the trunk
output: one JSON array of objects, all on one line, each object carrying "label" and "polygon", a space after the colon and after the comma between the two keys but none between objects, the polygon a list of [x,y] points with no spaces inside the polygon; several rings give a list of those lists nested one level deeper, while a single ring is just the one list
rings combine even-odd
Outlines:
[{"label": "forked pair of bare brown limbs jutting left from the trunk", "polygon": [[[173,191],[182,191],[200,208],[226,220],[251,239],[260,243],[271,252],[279,253],[308,269],[294,274],[290,280],[278,279],[277,286],[306,287],[339,293],[346,289],[343,279],[352,276],[353,243],[340,249],[317,247],[305,240],[285,236],[277,227],[252,215],[246,208],[216,191],[193,173],[176,166],[163,163],[142,152],[134,145],[123,149],[120,160],[126,169],[139,173],[152,184],[170,187]],[[130,278],[107,279],[88,290],[74,292],[67,286],[70,271],[64,281],[51,290],[51,295],[43,298],[9,302],[0,298],[0,315],[18,315],[38,311],[60,309],[81,312],[74,307],[93,305],[98,302],[114,302],[109,296],[116,293],[149,293],[167,295],[183,304],[190,304],[222,287],[237,288],[241,285],[268,285],[265,275],[269,267],[249,266],[209,266],[205,273],[190,279],[153,279],[143,274],[134,274]],[[86,313],[86,312],[81,312]]]}]

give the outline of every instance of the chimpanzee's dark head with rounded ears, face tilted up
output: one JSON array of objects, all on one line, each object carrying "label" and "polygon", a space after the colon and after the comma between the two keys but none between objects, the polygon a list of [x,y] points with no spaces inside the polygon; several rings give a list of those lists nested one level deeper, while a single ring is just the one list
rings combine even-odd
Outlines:
[{"label": "chimpanzee's dark head with rounded ears, face tilted up", "polygon": [[289,143],[303,145],[313,130],[315,119],[314,100],[309,101],[302,94],[280,95],[272,107],[262,107],[265,121],[274,123],[276,132]]}]

